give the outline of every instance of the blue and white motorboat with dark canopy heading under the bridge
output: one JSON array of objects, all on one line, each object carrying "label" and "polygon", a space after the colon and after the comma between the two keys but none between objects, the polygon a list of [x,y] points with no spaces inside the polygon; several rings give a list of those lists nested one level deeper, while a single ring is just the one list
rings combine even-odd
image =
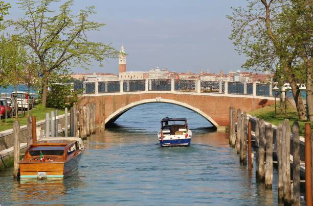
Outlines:
[{"label": "blue and white motorboat with dark canopy heading under the bridge", "polygon": [[190,146],[192,132],[188,129],[186,118],[164,118],[158,139],[162,147]]}]

